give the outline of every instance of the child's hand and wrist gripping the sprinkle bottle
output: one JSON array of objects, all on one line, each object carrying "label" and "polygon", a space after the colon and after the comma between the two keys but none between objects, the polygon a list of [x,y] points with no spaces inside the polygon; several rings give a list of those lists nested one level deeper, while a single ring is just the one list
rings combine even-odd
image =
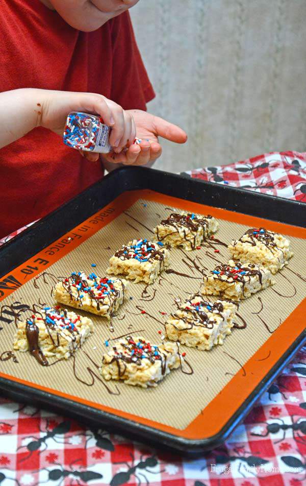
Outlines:
[{"label": "child's hand and wrist gripping the sprinkle bottle", "polygon": [[[101,94],[70,91],[37,90],[38,126],[63,135],[67,115],[70,111],[98,114],[106,125],[112,127],[110,144],[114,152],[121,150],[136,137],[136,127],[131,111],[126,111]],[[83,152],[89,160],[97,160],[98,154]]]}]

